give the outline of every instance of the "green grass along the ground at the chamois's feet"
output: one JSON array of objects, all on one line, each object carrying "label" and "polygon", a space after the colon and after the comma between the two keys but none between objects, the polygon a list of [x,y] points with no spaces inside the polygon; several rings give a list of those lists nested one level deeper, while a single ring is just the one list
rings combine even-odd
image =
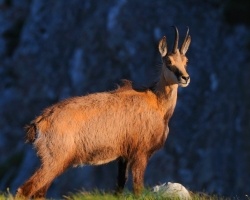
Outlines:
[{"label": "green grass along the ground at the chamois's feet", "polygon": [[[220,197],[218,195],[208,195],[205,193],[191,193],[192,200],[230,200],[230,198]],[[0,200],[14,200],[14,195],[12,195],[7,189],[6,192],[0,193]],[[129,191],[125,191],[121,196],[115,196],[112,193],[107,193],[99,190],[94,190],[91,192],[80,191],[74,194],[69,194],[63,196],[62,199],[65,200],[179,200],[179,198],[162,197],[157,193],[153,193],[150,190],[145,190],[142,195],[135,196]],[[237,197],[233,198],[238,200]],[[250,198],[246,195],[246,200]]]}]

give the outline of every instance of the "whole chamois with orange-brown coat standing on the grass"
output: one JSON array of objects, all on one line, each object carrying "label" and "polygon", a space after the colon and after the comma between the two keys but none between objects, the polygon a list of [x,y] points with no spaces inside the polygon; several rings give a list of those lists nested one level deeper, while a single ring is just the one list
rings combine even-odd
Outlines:
[{"label": "whole chamois with orange-brown coat standing on the grass", "polygon": [[154,87],[136,90],[130,81],[109,92],[72,97],[46,108],[25,127],[27,142],[34,143],[40,168],[17,189],[17,197],[44,198],[52,181],[69,167],[118,161],[116,193],[122,193],[132,173],[133,191],[143,189],[149,158],[168,136],[168,122],[177,100],[177,88],[188,86],[187,30],[181,49],[174,26],[173,50],[166,37],[159,42],[162,69]]}]

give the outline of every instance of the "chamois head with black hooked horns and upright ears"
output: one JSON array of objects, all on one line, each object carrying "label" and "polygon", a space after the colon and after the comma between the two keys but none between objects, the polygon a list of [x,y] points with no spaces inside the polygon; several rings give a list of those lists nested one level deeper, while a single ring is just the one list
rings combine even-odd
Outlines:
[{"label": "chamois head with black hooked horns and upright ears", "polygon": [[159,42],[159,51],[161,53],[163,62],[162,73],[164,75],[165,81],[169,85],[178,84],[181,87],[186,87],[190,82],[190,77],[186,71],[188,59],[185,56],[185,53],[188,50],[189,44],[191,42],[191,37],[190,35],[188,35],[188,29],[184,42],[181,46],[181,49],[179,50],[179,32],[175,26],[173,27],[175,29],[175,41],[172,52],[168,53],[167,41],[165,36]]}]

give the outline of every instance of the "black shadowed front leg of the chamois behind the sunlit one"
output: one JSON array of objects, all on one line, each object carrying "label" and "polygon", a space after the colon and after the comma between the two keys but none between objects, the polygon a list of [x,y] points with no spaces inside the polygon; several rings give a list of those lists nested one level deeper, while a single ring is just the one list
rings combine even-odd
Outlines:
[{"label": "black shadowed front leg of the chamois behind the sunlit one", "polygon": [[123,158],[118,159],[118,176],[115,194],[121,194],[128,180],[128,161]]}]

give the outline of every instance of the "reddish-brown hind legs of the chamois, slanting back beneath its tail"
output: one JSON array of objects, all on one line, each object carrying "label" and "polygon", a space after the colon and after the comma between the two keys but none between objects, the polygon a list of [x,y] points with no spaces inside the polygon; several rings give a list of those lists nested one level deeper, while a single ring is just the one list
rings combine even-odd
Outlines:
[{"label": "reddish-brown hind legs of the chamois, slanting back beneath its tail", "polygon": [[42,166],[17,189],[16,197],[44,198],[52,181],[62,174],[70,165],[66,160],[45,162]]}]

